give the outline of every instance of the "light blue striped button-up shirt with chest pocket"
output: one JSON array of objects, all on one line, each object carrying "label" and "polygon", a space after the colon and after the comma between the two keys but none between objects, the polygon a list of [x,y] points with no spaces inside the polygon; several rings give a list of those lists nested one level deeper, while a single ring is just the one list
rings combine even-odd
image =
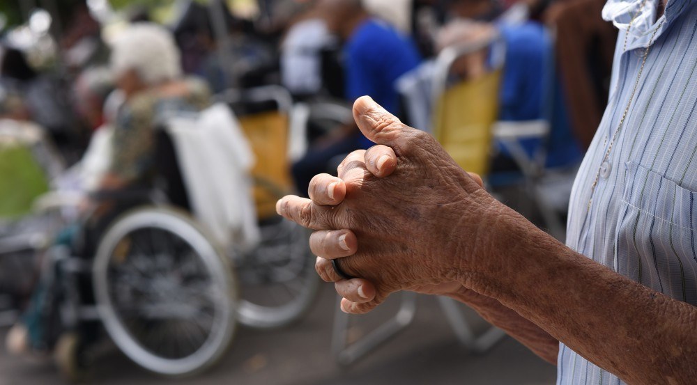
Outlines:
[{"label": "light blue striped button-up shirt with chest pocket", "polygon": [[[611,93],[574,184],[567,245],[697,305],[697,0],[669,0],[658,19],[657,1],[609,0],[603,10],[620,29]],[[557,382],[622,384],[563,344]]]}]

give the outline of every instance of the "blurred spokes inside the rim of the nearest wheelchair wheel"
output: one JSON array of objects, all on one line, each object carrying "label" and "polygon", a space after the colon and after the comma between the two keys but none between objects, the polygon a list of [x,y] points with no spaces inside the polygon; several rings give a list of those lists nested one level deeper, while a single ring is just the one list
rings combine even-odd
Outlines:
[{"label": "blurred spokes inside the rim of the nearest wheelchair wheel", "polygon": [[159,228],[130,236],[128,258],[109,268],[109,290],[122,320],[146,349],[178,358],[199,349],[225,300],[183,239]]}]

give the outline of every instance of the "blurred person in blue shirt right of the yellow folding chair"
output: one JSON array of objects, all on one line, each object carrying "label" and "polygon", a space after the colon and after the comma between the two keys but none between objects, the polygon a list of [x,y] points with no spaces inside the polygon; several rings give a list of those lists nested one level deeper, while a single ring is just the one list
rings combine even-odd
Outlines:
[{"label": "blurred person in blue shirt right of the yellow folding chair", "polygon": [[[505,70],[499,95],[499,120],[523,121],[547,119],[551,123],[546,143],[537,139],[521,141],[523,148],[533,154],[539,146],[546,146],[548,167],[572,166],[581,161],[581,148],[569,127],[567,111],[562,102],[553,103],[547,111],[549,98],[560,100],[558,82],[551,87],[553,77],[552,41],[539,22],[510,20],[502,15],[499,3],[493,0],[450,0],[452,15],[491,23],[506,42]],[[549,95],[551,93],[551,95]],[[491,171],[514,171],[516,164],[505,148],[493,159]]]}]

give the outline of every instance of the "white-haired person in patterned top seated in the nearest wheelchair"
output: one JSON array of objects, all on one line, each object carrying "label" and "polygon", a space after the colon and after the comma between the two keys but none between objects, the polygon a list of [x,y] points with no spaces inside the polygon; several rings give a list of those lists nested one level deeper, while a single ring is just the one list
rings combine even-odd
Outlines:
[{"label": "white-haired person in patterned top seated in the nearest wheelchair", "polygon": [[[98,189],[147,187],[151,184],[158,123],[174,112],[205,109],[210,104],[210,93],[202,81],[183,78],[174,39],[156,24],[138,23],[125,29],[112,46],[111,67],[124,100],[113,123],[112,159]],[[138,203],[100,202],[89,210],[90,221],[84,228],[66,229],[56,244],[70,247],[76,256],[91,258],[98,236],[109,222],[118,212]],[[90,290],[89,285],[81,288]],[[8,333],[9,352],[25,354],[52,349],[61,331],[50,324],[55,321],[50,314],[58,311],[57,306],[45,302],[52,297],[45,295],[51,290],[43,285],[35,289],[22,321]],[[94,325],[87,324],[84,329],[82,334],[87,338],[93,335]]]}]

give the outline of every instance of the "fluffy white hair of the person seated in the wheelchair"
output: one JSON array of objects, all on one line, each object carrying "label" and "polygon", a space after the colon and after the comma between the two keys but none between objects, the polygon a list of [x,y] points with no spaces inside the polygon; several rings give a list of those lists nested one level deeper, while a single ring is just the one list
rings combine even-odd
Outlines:
[{"label": "fluffy white hair of the person seated in the wheelchair", "polygon": [[111,66],[116,77],[135,70],[145,84],[158,84],[182,74],[181,56],[163,26],[139,22],[123,30],[112,44]]}]

